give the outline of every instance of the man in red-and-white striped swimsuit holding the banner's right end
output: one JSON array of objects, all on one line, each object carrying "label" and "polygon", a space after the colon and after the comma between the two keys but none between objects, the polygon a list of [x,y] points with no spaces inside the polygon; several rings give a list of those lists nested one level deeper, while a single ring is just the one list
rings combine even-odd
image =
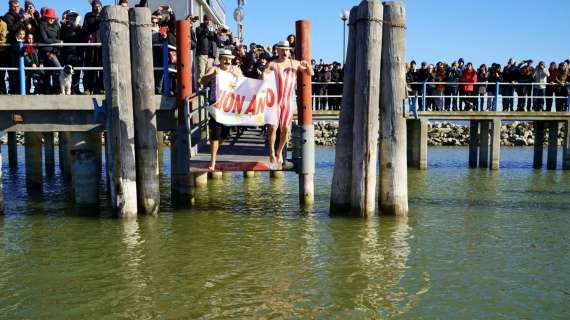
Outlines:
[{"label": "man in red-and-white striped swimsuit holding the banner's right end", "polygon": [[[277,58],[273,60],[265,69],[264,76],[275,75],[277,80],[277,103],[279,105],[279,120],[276,125],[272,125],[269,131],[269,161],[277,162],[278,166],[283,165],[283,148],[287,143],[291,124],[293,122],[293,113],[297,107],[294,98],[294,92],[297,89],[297,72],[305,72],[313,76],[313,67],[307,61],[298,61],[291,58],[291,47],[287,41],[279,41],[276,45]],[[281,127],[279,137],[279,146],[277,154],[275,153],[275,140],[277,137],[277,128]]]}]

